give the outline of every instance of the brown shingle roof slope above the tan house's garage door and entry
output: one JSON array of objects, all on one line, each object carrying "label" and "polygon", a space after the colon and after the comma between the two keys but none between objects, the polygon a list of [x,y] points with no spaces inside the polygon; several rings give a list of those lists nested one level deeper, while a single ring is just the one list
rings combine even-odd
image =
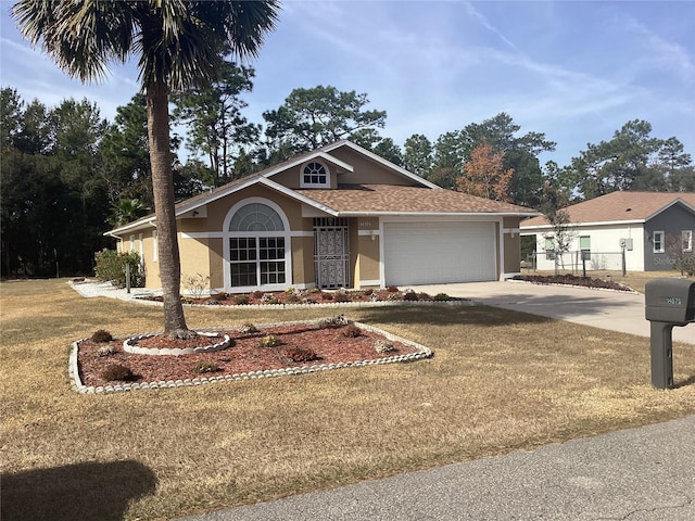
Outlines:
[{"label": "brown shingle roof slope above the tan house's garage door and entry", "polygon": [[452,190],[393,185],[343,185],[338,190],[295,190],[343,214],[350,213],[495,213],[535,215],[532,208]]}]

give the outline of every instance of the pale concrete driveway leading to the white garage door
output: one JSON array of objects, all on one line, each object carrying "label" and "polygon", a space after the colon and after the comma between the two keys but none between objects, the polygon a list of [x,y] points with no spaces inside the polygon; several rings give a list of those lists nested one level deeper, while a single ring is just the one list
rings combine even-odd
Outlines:
[{"label": "pale concrete driveway leading to the white garage door", "polygon": [[[471,298],[488,306],[530,313],[594,328],[649,336],[644,318],[644,295],[619,291],[591,290],[527,282],[467,282],[416,285],[431,295],[446,293]],[[673,328],[673,341],[695,344],[695,323]]]}]

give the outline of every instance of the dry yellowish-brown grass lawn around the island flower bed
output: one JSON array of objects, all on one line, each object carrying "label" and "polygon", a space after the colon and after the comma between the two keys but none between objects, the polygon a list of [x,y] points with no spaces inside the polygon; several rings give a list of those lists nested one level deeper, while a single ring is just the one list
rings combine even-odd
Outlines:
[{"label": "dry yellowish-brown grass lawn around the island flower bed", "polygon": [[[657,391],[648,339],[489,307],[348,312],[428,345],[428,360],[79,395],[71,343],[160,330],[161,308],[64,280],[0,292],[5,521],[166,519],[695,412],[695,346],[675,344],[678,389]],[[187,309],[192,328],[330,315]]]}]

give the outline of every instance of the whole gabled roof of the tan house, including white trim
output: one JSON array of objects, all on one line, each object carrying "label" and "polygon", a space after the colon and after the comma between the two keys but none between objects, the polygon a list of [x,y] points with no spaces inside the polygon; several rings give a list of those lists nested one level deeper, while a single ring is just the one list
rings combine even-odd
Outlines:
[{"label": "whole gabled roof of the tan house, including white trim", "polygon": [[[276,174],[300,166],[314,158],[321,158],[326,162],[330,162],[344,171],[353,171],[352,165],[330,154],[330,152],[343,147],[350,148],[399,176],[407,178],[415,186],[339,185],[337,189],[293,190],[279,185],[271,179]],[[462,192],[442,189],[440,186],[412,174],[351,141],[343,140],[321,147],[320,149],[312,152],[300,154],[264,170],[236,179],[227,185],[187,199],[176,205],[176,216],[180,217],[189,212],[195,211],[195,208],[200,208],[213,201],[256,183],[264,185],[291,199],[333,216],[364,215],[366,213],[428,215],[468,215],[488,213],[517,216],[539,215],[536,211],[526,208],[523,206],[501,203],[498,201],[491,201]],[[154,214],[150,214],[138,220],[115,228],[105,234],[122,234],[126,231],[135,230],[143,226],[151,226],[154,221]]]}]

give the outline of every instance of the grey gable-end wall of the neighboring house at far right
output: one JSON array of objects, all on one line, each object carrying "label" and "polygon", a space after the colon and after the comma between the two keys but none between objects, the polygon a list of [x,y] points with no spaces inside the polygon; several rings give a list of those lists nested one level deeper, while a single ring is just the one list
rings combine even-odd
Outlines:
[{"label": "grey gable-end wall of the neighboring house at far right", "polygon": [[[652,219],[647,220],[644,226],[644,266],[645,271],[658,271],[673,268],[674,259],[670,254],[669,245],[671,241],[681,240],[681,233],[684,230],[695,232],[695,213],[681,204],[674,204]],[[654,251],[654,232],[662,231],[666,242],[664,253]],[[677,246],[680,251],[680,246]]]}]

